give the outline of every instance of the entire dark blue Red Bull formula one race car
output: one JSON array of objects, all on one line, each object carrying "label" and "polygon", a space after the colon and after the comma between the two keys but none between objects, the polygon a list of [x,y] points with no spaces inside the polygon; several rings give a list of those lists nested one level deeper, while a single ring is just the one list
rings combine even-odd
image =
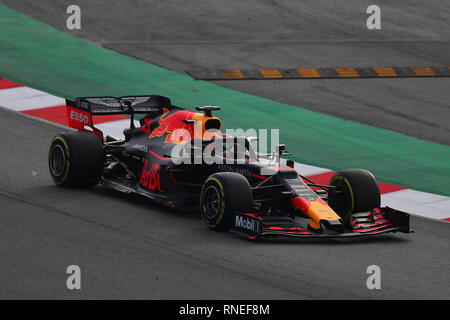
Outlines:
[{"label": "entire dark blue Red Bull formula one race car", "polygon": [[[223,134],[212,115],[194,112],[157,96],[85,97],[66,100],[69,125],[78,131],[55,136],[49,168],[55,184],[102,184],[137,193],[165,206],[200,211],[211,229],[248,239],[268,236],[354,237],[409,232],[409,215],[380,208],[380,191],[366,170],[337,172],[317,184],[279,165],[288,155],[255,152],[252,139]],[[103,136],[93,116],[128,114],[124,139]],[[143,114],[135,127],[135,114]],[[275,159],[275,160],[274,160]]]}]

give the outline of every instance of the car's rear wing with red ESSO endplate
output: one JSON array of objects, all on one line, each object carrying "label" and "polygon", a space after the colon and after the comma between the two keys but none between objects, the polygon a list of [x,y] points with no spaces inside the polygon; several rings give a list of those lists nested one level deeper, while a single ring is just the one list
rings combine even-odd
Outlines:
[{"label": "car's rear wing with red ESSO endplate", "polygon": [[[130,114],[133,123],[134,114],[159,114],[163,108],[172,109],[169,98],[159,95],[126,97],[78,97],[66,99],[69,127],[86,131],[91,128],[101,141],[103,133],[94,127],[93,115]],[[90,131],[90,130],[89,130]]]}]

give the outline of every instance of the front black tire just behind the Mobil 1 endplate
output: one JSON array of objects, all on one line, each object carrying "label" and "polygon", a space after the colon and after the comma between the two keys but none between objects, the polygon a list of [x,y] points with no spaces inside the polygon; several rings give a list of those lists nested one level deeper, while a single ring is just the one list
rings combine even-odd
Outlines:
[{"label": "front black tire just behind the Mobil 1 endplate", "polygon": [[219,172],[203,184],[200,213],[208,228],[228,230],[235,212],[252,212],[252,201],[250,184],[243,175]]}]

